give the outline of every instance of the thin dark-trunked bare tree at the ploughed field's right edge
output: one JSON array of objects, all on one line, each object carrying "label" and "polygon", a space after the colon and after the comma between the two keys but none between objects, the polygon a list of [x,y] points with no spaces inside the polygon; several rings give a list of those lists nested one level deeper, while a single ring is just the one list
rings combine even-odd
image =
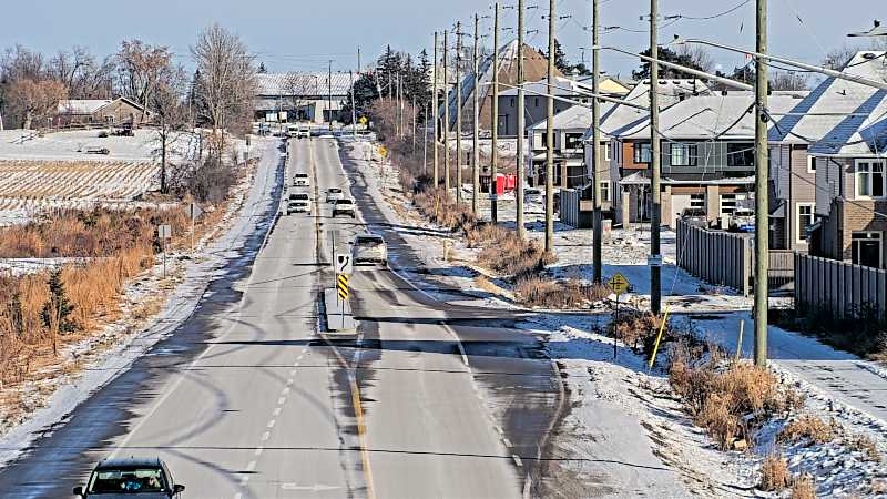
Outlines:
[{"label": "thin dark-trunked bare tree at the ploughed field's right edge", "polygon": [[167,68],[160,73],[149,103],[156,118],[154,143],[160,156],[160,191],[169,193],[167,166],[170,147],[187,131],[190,114],[186,105],[187,77],[183,68]]}]

